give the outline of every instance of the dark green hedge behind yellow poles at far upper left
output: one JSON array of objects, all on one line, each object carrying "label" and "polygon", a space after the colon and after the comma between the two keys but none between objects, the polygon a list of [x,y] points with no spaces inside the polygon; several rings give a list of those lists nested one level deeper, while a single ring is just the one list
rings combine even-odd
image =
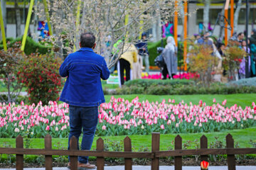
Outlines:
[{"label": "dark green hedge behind yellow poles at far upper left", "polygon": [[[21,42],[22,37],[16,38],[16,39],[8,38],[7,42],[8,41],[9,41],[8,47],[11,47],[12,45],[14,45],[15,42]],[[0,45],[0,50],[3,50],[4,49],[3,42],[1,41],[0,44],[1,44]],[[24,52],[25,52],[26,55],[30,55],[31,53],[34,53],[34,52],[39,52],[41,54],[46,54],[46,53],[50,52],[51,48],[52,48],[51,46],[41,45],[40,43],[34,41],[32,38],[27,37]]]}]

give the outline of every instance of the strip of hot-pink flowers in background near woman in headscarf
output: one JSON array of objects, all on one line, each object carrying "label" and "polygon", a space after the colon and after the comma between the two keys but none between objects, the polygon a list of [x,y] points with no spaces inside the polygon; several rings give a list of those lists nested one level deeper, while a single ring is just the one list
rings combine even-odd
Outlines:
[{"label": "strip of hot-pink flowers in background near woman in headscarf", "polygon": [[[167,74],[167,78],[169,78],[169,75]],[[176,74],[174,75],[174,79],[198,79],[199,74],[194,73],[182,73],[182,74]],[[150,74],[148,76],[144,75],[142,79],[162,79],[162,74]]]}]

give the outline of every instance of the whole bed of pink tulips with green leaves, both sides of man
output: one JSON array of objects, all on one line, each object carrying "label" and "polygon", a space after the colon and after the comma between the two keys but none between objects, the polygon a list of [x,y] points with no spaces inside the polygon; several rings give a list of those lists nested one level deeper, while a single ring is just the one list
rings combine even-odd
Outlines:
[{"label": "whole bed of pink tulips with green leaves, both sides of man", "polygon": [[[215,103],[206,106],[199,101],[197,105],[175,103],[163,100],[149,103],[132,102],[124,98],[112,98],[99,108],[99,124],[96,134],[105,135],[149,135],[151,132],[219,132],[248,128],[256,125],[256,105],[241,108],[236,104],[230,108]],[[28,106],[0,103],[0,137],[16,137],[28,134],[29,137],[68,137],[68,104],[50,101],[48,106],[38,103]]]}]

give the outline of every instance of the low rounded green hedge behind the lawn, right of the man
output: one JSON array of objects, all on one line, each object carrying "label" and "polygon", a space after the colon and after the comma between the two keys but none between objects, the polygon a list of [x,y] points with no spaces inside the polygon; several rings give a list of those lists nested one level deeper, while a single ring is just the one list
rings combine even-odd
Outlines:
[{"label": "low rounded green hedge behind the lawn, right of the man", "polygon": [[189,95],[189,94],[255,94],[256,86],[227,86],[214,83],[209,87],[195,84],[186,79],[156,80],[137,79],[127,81],[122,88],[107,91],[105,94],[151,94],[151,95]]}]

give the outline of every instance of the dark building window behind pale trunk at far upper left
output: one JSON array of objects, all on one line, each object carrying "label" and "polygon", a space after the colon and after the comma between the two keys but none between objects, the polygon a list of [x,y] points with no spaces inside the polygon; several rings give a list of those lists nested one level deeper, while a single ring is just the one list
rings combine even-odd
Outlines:
[{"label": "dark building window behind pale trunk at far upper left", "polygon": [[[25,16],[24,16],[24,8],[19,8],[21,13],[21,23],[26,22],[26,17],[28,16],[28,8],[25,8]],[[6,8],[6,17],[7,17],[7,23],[16,23],[16,13],[15,8]]]}]

